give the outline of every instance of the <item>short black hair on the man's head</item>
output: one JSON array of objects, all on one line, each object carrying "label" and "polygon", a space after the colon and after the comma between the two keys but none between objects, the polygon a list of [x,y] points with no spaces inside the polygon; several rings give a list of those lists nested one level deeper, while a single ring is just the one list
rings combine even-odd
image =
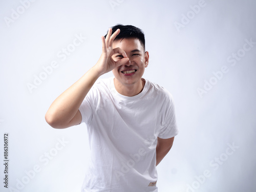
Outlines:
[{"label": "short black hair on the man's head", "polygon": [[[141,42],[142,47],[145,50],[145,36],[141,29],[134,27],[132,25],[122,25],[117,24],[112,28],[112,34],[115,33],[117,29],[120,29],[120,33],[116,36],[115,40],[123,38],[137,38]],[[106,33],[106,35],[108,32]],[[104,36],[106,38],[106,35]]]}]

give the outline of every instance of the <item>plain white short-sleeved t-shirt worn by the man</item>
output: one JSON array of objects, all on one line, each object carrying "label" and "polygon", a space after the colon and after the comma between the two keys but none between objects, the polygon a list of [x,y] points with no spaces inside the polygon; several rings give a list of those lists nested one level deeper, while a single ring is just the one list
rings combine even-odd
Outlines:
[{"label": "plain white short-sleeved t-shirt worn by the man", "polygon": [[119,94],[114,77],[95,82],[79,111],[91,160],[82,192],[157,191],[157,137],[178,134],[172,95],[145,80],[141,93]]}]

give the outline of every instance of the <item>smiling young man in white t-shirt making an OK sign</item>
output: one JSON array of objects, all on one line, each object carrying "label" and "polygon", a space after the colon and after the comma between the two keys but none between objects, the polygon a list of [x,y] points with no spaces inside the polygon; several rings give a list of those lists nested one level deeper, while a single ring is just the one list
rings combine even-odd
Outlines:
[{"label": "smiling young man in white t-shirt making an OK sign", "polygon": [[[96,65],[52,103],[46,121],[57,129],[87,124],[82,192],[157,191],[156,166],[178,134],[172,95],[142,78],[149,55],[140,29],[117,25],[101,39]],[[110,71],[114,77],[98,79]]]}]

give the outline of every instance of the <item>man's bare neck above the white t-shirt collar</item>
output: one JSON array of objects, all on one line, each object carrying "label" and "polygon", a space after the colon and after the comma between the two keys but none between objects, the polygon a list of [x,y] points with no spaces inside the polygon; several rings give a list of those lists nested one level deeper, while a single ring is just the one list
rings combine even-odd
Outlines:
[{"label": "man's bare neck above the white t-shirt collar", "polygon": [[142,92],[143,88],[145,85],[145,80],[141,79],[135,84],[132,85],[123,85],[120,84],[116,78],[114,78],[114,86],[116,88],[116,91],[120,93],[121,95],[127,96],[127,97],[132,97],[135,95],[138,95],[140,92]]}]

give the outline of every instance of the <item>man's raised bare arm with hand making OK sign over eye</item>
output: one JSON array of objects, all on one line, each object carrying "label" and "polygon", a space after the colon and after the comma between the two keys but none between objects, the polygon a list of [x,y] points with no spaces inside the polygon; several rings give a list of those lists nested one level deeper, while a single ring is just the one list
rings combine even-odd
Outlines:
[{"label": "man's raised bare arm with hand making OK sign over eye", "polygon": [[[79,106],[95,81],[104,73],[110,72],[129,60],[123,50],[112,48],[113,41],[119,32],[118,29],[112,34],[112,29],[109,29],[106,38],[101,36],[102,54],[96,65],[53,101],[45,115],[47,123],[52,127],[63,129],[79,124],[82,119]],[[114,54],[122,54],[123,58],[113,60]]]}]

